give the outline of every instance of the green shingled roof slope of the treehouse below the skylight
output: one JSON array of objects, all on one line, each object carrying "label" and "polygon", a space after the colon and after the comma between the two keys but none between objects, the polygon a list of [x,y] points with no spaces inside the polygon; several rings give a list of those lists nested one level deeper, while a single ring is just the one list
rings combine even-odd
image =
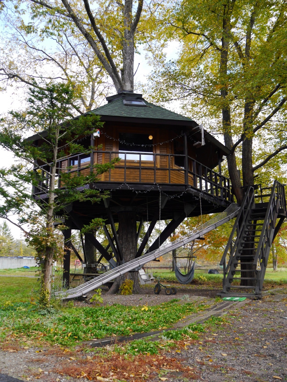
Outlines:
[{"label": "green shingled roof slope of the treehouse below the skylight", "polygon": [[142,100],[145,102],[147,107],[126,106],[123,104],[122,100],[122,98],[111,100],[108,104],[100,106],[91,112],[102,116],[109,115],[113,117],[153,118],[192,122],[191,118],[171,112],[163,107],[153,105],[143,99]]}]

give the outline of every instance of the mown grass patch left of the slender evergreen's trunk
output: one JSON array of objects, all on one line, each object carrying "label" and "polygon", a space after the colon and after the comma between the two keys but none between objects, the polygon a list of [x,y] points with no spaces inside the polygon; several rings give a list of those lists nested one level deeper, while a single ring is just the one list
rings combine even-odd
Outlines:
[{"label": "mown grass patch left of the slender evergreen's trunk", "polygon": [[39,282],[36,278],[28,277],[0,277],[0,306],[7,301],[20,303],[30,301],[35,298],[35,290],[39,289]]}]

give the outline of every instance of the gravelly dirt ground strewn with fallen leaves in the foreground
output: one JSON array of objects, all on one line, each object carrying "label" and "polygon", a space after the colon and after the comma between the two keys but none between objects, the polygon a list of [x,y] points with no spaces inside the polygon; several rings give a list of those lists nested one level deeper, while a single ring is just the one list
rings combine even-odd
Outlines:
[{"label": "gravelly dirt ground strewn with fallen leaves in the foreground", "polygon": [[[93,353],[93,348],[90,351],[84,348],[69,351],[58,346],[21,349],[11,343],[4,344],[5,350],[0,351],[0,373],[43,382],[88,380],[91,378],[88,370],[94,372],[94,380],[106,381],[158,382],[159,377],[166,382],[191,379],[208,382],[287,380],[287,319],[284,318],[287,317],[287,299],[284,295],[278,296],[249,300],[224,316],[230,323],[200,334],[199,340],[191,341],[190,345],[183,344],[180,351],[136,358],[134,363],[140,365],[138,378],[126,372],[134,365],[124,363],[124,357],[119,361],[119,358],[112,359],[116,357],[113,355],[111,359],[99,361],[101,358]],[[276,299],[281,301],[274,301]],[[165,363],[160,364],[163,361]],[[145,363],[145,370],[140,362]],[[153,362],[154,366],[151,366]],[[169,369],[163,366],[169,364],[177,366],[169,366]],[[121,378],[114,379],[114,370]]]}]

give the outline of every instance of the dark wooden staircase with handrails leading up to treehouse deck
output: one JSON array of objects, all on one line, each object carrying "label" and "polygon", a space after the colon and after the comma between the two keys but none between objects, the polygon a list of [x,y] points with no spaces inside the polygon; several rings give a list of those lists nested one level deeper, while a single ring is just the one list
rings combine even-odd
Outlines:
[{"label": "dark wooden staircase with handrails leading up to treehouse deck", "polygon": [[248,187],[220,261],[221,296],[261,298],[271,245],[286,217],[284,185],[274,181],[257,194]]}]

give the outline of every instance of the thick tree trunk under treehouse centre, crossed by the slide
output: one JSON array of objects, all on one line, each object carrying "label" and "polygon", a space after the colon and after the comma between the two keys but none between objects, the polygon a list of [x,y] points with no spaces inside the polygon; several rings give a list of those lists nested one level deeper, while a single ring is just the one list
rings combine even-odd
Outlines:
[{"label": "thick tree trunk under treehouse centre, crossed by the slide", "polygon": [[[124,262],[128,262],[135,258],[137,253],[137,214],[134,211],[119,212],[119,244],[122,249]],[[113,286],[108,291],[109,294],[114,294],[119,291],[119,287],[124,280],[133,280],[133,293],[141,293],[139,285],[138,272],[128,272],[115,279]]]}]

